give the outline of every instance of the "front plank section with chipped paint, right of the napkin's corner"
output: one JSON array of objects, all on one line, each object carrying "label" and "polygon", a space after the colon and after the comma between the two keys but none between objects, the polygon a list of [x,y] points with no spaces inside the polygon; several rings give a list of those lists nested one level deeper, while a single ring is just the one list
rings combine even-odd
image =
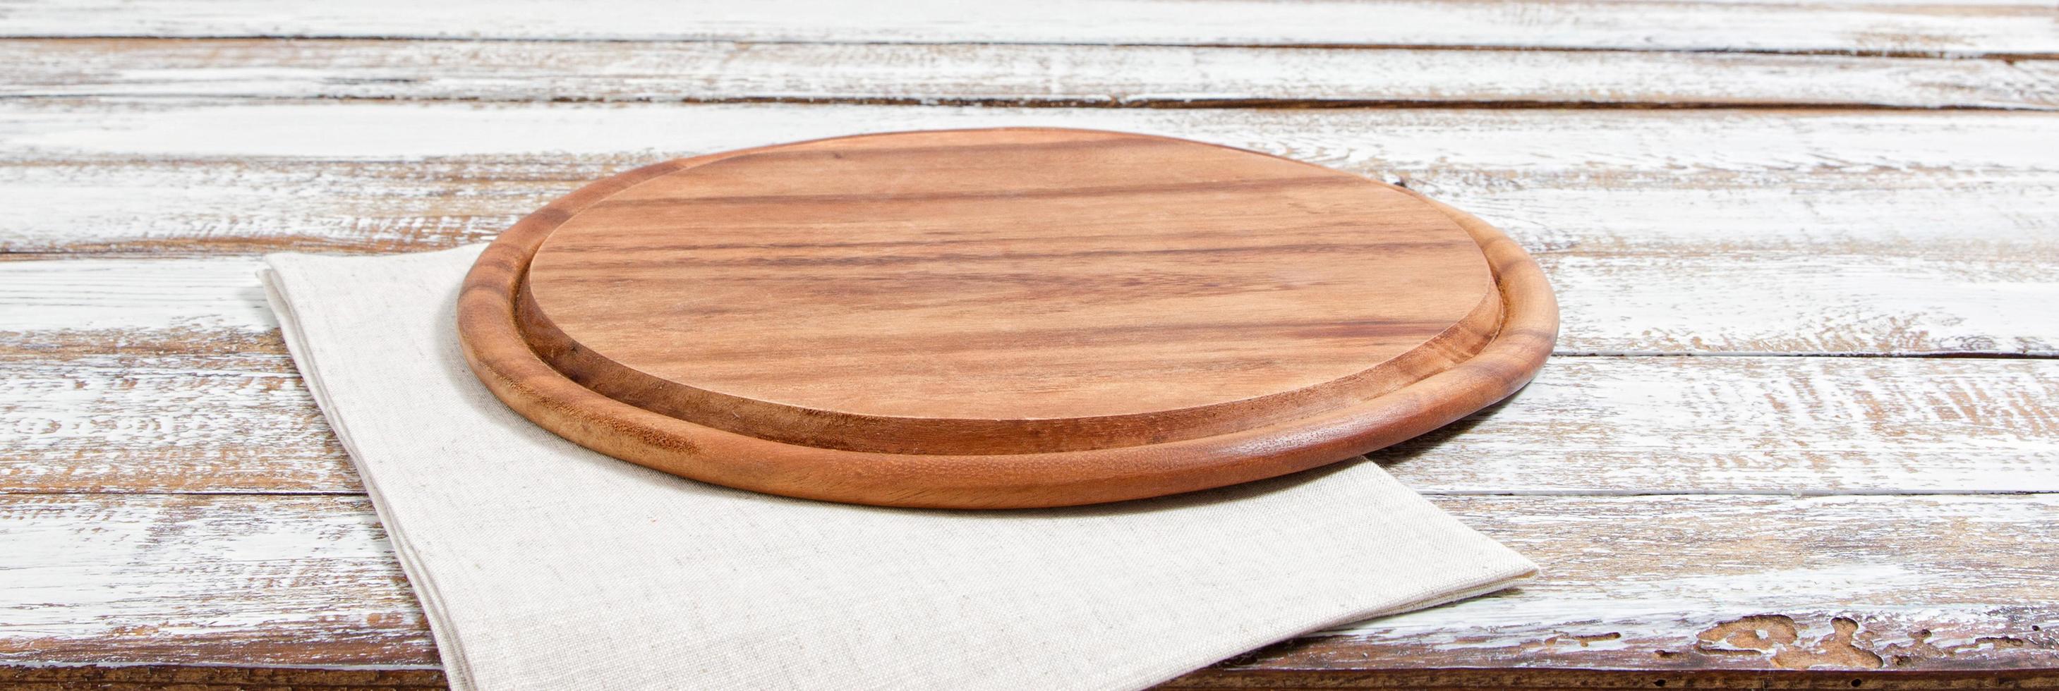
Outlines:
[{"label": "front plank section with chipped paint, right of the napkin's corner", "polygon": [[[1536,559],[1544,570],[1536,584],[1332,633],[1365,635],[1347,644],[1353,654],[1396,646],[1429,656],[1417,658],[1425,666],[1474,666],[1466,650],[1480,648],[1546,668],[1594,658],[1629,668],[2059,660],[2059,635],[2045,631],[2059,617],[2051,601],[2059,553],[2026,547],[2059,537],[2049,522],[2053,496],[1532,500],[1439,506]],[[1964,574],[1981,574],[1979,584]],[[1849,648],[1833,638],[1839,617],[1853,623]],[[1503,638],[1503,627],[1526,633]],[[1752,629],[1763,640],[1736,635]],[[1351,656],[1330,660],[1351,664]]]}]

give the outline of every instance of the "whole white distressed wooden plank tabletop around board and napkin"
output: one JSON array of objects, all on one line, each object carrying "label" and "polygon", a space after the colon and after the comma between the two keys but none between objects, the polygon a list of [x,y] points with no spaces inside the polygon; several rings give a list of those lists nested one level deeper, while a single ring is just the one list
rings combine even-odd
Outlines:
[{"label": "whole white distressed wooden plank tabletop around board and napkin", "polygon": [[1528,391],[1377,454],[1544,578],[1176,687],[2059,685],[2051,2],[31,0],[0,35],[0,685],[441,685],[259,253],[970,125],[1400,181],[1563,300]]}]

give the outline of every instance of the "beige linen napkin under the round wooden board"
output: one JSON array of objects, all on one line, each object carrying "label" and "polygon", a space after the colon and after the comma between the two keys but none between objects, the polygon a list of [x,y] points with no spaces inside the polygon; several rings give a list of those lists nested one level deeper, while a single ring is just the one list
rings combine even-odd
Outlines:
[{"label": "beige linen napkin under the round wooden board", "polygon": [[607,459],[465,368],[453,308],[478,251],[270,255],[261,274],[455,689],[1139,689],[1534,572],[1371,463],[949,512]]}]

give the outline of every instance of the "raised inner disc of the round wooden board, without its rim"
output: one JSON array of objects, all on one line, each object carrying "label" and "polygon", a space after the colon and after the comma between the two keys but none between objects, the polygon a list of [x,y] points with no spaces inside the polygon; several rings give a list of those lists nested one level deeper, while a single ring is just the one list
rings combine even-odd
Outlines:
[{"label": "raised inner disc of the round wooden board, without its rim", "polygon": [[1398,389],[1501,323],[1458,222],[1295,160],[1042,128],[698,160],[552,224],[502,298],[587,389],[791,444],[1223,434]]}]

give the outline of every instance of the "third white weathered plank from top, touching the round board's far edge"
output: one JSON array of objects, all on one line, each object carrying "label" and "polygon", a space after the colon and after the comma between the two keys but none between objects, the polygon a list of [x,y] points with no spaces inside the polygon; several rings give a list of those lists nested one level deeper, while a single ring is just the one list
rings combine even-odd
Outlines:
[{"label": "third white weathered plank from top, touching the round board's far edge", "polygon": [[[1585,169],[1721,183],[1748,173],[1830,179],[1876,167],[1931,173],[2051,171],[2020,146],[2049,113],[1666,109],[1009,109],[795,103],[327,103],[247,99],[12,99],[6,162],[86,156],[686,154],[793,138],[910,128],[1067,125],[1188,132],[1324,165],[1425,162],[1509,173]],[[321,136],[309,136],[321,134]],[[1709,142],[1707,138],[1728,138]],[[1880,138],[1892,138],[1882,142]],[[1429,154],[1429,158],[1423,158]],[[1604,179],[1606,181],[1606,179]],[[1618,183],[1618,185],[1620,185]]]}]

